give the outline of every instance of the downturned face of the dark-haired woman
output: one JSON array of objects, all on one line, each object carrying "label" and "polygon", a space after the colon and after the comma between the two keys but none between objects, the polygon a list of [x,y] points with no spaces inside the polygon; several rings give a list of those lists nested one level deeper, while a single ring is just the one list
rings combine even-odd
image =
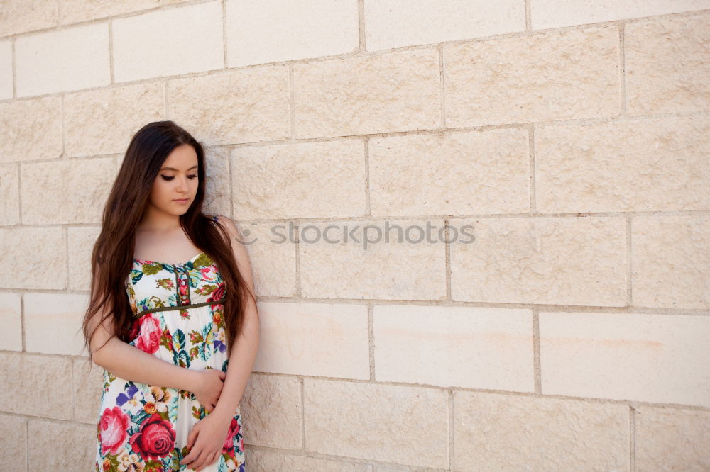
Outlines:
[{"label": "downturned face of the dark-haired woman", "polygon": [[197,193],[197,153],[190,145],[175,147],[153,182],[148,201],[170,215],[182,215]]}]

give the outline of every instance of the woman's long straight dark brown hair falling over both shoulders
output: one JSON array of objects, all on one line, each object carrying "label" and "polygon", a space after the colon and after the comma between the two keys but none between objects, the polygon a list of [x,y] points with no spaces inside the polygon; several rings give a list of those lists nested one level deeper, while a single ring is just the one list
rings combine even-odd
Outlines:
[{"label": "woman's long straight dark brown hair falling over both shoulders", "polygon": [[[89,348],[94,332],[109,316],[113,318],[114,335],[130,342],[135,318],[126,293],[126,279],[133,266],[135,233],[148,203],[153,182],[170,152],[180,145],[191,145],[197,153],[197,194],[184,215],[180,226],[192,244],[206,252],[214,261],[224,280],[224,324],[229,350],[241,334],[247,297],[256,298],[246,286],[234,261],[231,237],[221,226],[202,213],[204,201],[204,150],[190,133],[173,121],[155,121],[143,126],[131,138],[123,164],[111,187],[104,206],[102,229],[92,251],[91,296],[82,323],[84,347]],[[89,320],[104,313],[101,322],[89,332]]]}]

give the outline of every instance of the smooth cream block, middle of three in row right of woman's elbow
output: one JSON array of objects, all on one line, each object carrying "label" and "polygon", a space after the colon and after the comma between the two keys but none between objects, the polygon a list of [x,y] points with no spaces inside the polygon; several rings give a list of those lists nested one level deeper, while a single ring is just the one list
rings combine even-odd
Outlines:
[{"label": "smooth cream block, middle of three in row right of woman's elbow", "polygon": [[377,381],[535,391],[530,310],[376,305],[373,326]]}]

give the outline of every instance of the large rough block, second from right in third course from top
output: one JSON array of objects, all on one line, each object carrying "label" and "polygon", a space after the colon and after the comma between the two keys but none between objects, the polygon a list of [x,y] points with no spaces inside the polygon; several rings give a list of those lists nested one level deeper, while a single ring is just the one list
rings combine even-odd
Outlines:
[{"label": "large rough block, second from right in third course from top", "polygon": [[619,57],[616,26],[444,45],[446,124],[616,116]]}]

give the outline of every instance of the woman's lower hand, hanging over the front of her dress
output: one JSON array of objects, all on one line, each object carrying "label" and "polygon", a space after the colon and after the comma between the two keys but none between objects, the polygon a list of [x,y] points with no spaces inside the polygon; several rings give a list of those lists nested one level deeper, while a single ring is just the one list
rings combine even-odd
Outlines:
[{"label": "woman's lower hand, hanging over the front of her dress", "polygon": [[180,463],[187,464],[188,468],[195,469],[195,471],[201,471],[202,468],[217,461],[219,454],[222,454],[227,434],[229,434],[230,423],[231,418],[217,415],[207,415],[195,423],[187,436],[186,446],[190,453]]}]

